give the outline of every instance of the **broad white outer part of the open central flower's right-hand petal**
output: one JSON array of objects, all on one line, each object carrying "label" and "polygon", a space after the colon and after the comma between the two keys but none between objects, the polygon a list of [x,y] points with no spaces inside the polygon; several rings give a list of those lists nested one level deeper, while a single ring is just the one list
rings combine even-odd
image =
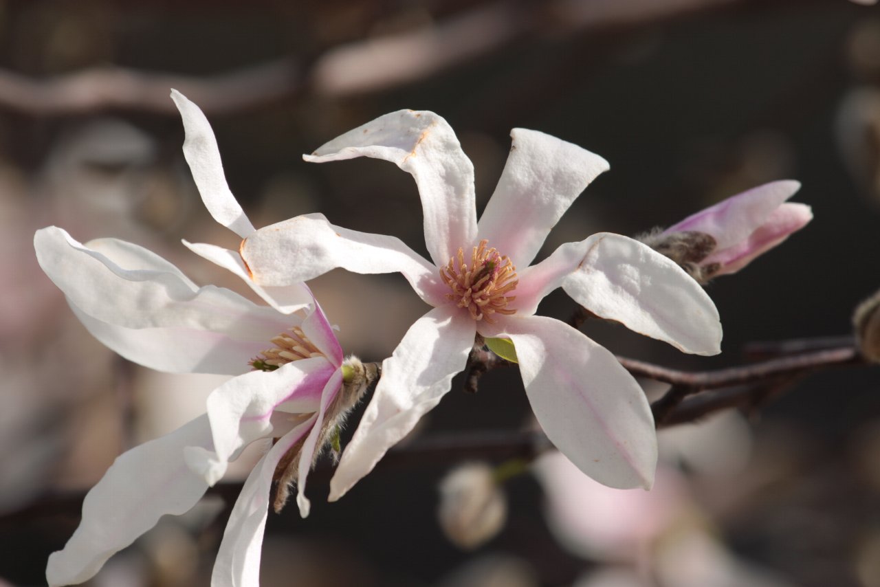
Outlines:
[{"label": "broad white outer part of the open central flower's right-hand petal", "polygon": [[633,238],[599,232],[562,288],[590,312],[695,355],[721,352],[712,298],[675,261]]}]

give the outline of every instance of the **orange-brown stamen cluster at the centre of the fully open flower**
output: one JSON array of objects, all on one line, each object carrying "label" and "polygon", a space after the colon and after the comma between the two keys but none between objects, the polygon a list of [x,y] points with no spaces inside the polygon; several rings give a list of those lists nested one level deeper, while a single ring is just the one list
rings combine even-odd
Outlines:
[{"label": "orange-brown stamen cluster at the centre of the fully open flower", "polygon": [[516,296],[506,296],[517,287],[517,268],[506,256],[487,248],[488,240],[480,240],[474,246],[470,265],[465,263],[465,252],[458,249],[458,255],[449,260],[449,265],[440,268],[440,278],[449,286],[448,299],[456,302],[459,308],[467,308],[475,320],[485,319],[495,324],[492,314],[514,314],[507,305]]}]

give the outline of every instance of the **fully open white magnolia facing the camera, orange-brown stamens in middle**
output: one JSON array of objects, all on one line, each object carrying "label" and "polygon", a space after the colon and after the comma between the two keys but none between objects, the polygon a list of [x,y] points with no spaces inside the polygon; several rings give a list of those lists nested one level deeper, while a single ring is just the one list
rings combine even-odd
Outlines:
[{"label": "fully open white magnolia facing the camera, orange-brown stamens in middle", "polygon": [[[399,238],[350,231],[319,214],[240,233],[241,257],[263,288],[286,287],[333,268],[400,272],[433,306],[383,363],[373,399],[331,481],[331,500],[369,473],[436,406],[465,368],[476,334],[512,343],[539,422],[584,473],[613,487],[649,488],[656,435],[648,401],[609,351],[560,320],[534,315],[556,288],[598,316],[678,349],[719,352],[722,333],[712,301],[673,261],[632,238],[598,233],[530,267],[547,233],[608,164],[537,131],[517,128],[512,137],[510,158],[479,224],[473,165],[436,114],[386,114],[305,157],[381,158],[412,173],[431,261]],[[208,151],[200,155],[219,160]]]}]

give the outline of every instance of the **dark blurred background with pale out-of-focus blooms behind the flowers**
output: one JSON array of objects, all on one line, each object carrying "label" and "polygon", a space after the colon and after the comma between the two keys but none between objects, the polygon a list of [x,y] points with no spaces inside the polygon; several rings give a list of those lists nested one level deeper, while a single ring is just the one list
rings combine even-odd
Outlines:
[{"label": "dark blurred background with pale out-of-focus blooms behind the flowers", "polygon": [[[0,2],[0,584],[44,583],[84,491],[121,451],[201,414],[221,380],[114,356],[33,255],[33,231],[57,224],[82,242],[131,240],[195,282],[250,295],[180,244],[235,247],[238,238],[202,207],[171,87],[208,115],[254,225],[322,212],[421,253],[421,208],[406,173],[375,160],[306,164],[301,154],[380,114],[433,110],[473,160],[481,209],[510,128],[597,152],[611,172],[562,218],[539,258],[595,231],[674,224],[766,181],[803,183],[793,200],[810,204],[814,221],[708,286],[725,330],[721,356],[585,325],[620,355],[686,370],[740,364],[749,342],[850,334],[854,306],[880,288],[876,7]],[[389,356],[427,311],[399,275],[337,271],[313,289],[343,348],[363,360]],[[540,313],[567,319],[574,310],[557,292]],[[422,437],[533,426],[515,370],[489,373],[476,394],[458,391],[461,379]],[[318,474],[308,519],[296,508],[270,515],[262,584],[880,585],[876,370],[819,373],[758,413],[663,431],[661,443],[650,494],[598,488],[550,451],[500,486],[476,467],[444,482],[443,493],[460,454],[380,463],[334,504]],[[245,462],[239,481],[246,470]],[[441,495],[473,491],[495,513],[438,523]],[[218,491],[189,515],[165,518],[91,584],[208,584],[231,507],[222,498],[234,496]],[[454,516],[464,506],[447,507]],[[463,538],[472,526],[478,536]]]}]

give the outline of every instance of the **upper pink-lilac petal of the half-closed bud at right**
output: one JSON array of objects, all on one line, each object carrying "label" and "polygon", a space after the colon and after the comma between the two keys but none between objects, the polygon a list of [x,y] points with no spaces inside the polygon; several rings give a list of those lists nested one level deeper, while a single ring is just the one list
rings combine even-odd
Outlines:
[{"label": "upper pink-lilac petal of the half-closed bud at right", "polygon": [[687,216],[664,232],[706,232],[715,238],[716,250],[735,246],[748,238],[761,224],[801,188],[794,180],[781,180],[731,196],[730,198]]}]

